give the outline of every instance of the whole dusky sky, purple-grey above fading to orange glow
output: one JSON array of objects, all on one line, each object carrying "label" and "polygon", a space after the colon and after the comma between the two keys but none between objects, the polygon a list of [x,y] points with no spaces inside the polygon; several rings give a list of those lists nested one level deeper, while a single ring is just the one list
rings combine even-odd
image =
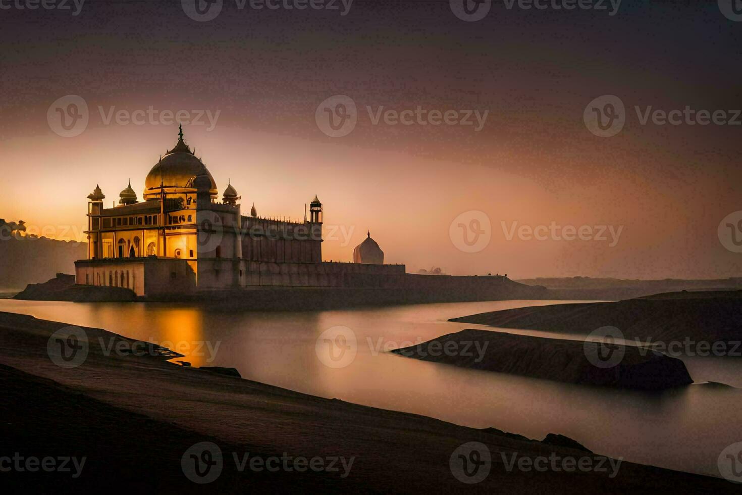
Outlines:
[{"label": "whole dusky sky, purple-grey above fading to orange glow", "polygon": [[410,272],[742,276],[725,0],[256,1],[0,0],[0,217],[79,238],[182,122],[243,212],[317,194],[326,260],[370,231]]}]

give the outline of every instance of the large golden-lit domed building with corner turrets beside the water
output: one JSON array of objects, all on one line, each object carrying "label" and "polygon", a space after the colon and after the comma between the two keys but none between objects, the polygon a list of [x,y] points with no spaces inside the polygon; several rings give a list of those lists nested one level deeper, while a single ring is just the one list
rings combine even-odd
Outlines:
[{"label": "large golden-lit domed building with corner turrets beside the water", "polygon": [[144,201],[137,201],[131,180],[112,208],[104,208],[99,186],[88,194],[88,259],[75,263],[77,283],[125,287],[137,295],[266,281],[307,284],[300,280],[306,265],[322,262],[316,196],[303,221],[258,217],[255,205],[243,216],[231,180],[221,203],[217,197],[214,177],[183,140],[180,126],[174,147],[145,178]]}]

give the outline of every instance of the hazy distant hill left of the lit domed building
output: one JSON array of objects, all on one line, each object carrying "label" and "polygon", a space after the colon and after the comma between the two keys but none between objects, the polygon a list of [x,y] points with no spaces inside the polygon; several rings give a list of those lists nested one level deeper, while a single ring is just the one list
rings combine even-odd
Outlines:
[{"label": "hazy distant hill left of the lit domed building", "polygon": [[88,258],[88,243],[21,235],[0,236],[0,291],[21,291],[57,273],[73,274],[75,260]]}]

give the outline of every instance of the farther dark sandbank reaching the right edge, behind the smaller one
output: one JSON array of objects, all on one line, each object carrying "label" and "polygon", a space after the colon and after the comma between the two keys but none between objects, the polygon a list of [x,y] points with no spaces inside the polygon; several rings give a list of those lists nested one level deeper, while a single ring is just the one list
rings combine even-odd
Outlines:
[{"label": "farther dark sandbank reaching the right edge, behind the smaller one", "polygon": [[730,345],[742,339],[742,291],[673,292],[626,301],[533,306],[452,318],[472,324],[588,334],[617,327],[625,338],[687,338]]}]

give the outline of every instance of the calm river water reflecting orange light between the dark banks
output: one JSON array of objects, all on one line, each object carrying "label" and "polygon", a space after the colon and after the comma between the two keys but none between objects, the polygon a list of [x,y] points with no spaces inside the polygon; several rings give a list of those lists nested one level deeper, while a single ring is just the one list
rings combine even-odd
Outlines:
[{"label": "calm river water reflecting orange light between the dark banks", "polygon": [[[718,476],[721,450],[742,441],[742,390],[692,385],[657,395],[464,370],[384,353],[479,327],[448,318],[563,302],[228,313],[183,304],[0,300],[0,311],[105,328],[177,350],[194,366],[236,367],[243,378],[316,396],[492,426],[534,439],[562,433],[598,453]],[[358,353],[347,367],[327,367],[315,351],[318,336],[335,326],[350,328],[357,338]],[[742,358],[693,358],[686,365],[697,382],[742,387]]]}]

